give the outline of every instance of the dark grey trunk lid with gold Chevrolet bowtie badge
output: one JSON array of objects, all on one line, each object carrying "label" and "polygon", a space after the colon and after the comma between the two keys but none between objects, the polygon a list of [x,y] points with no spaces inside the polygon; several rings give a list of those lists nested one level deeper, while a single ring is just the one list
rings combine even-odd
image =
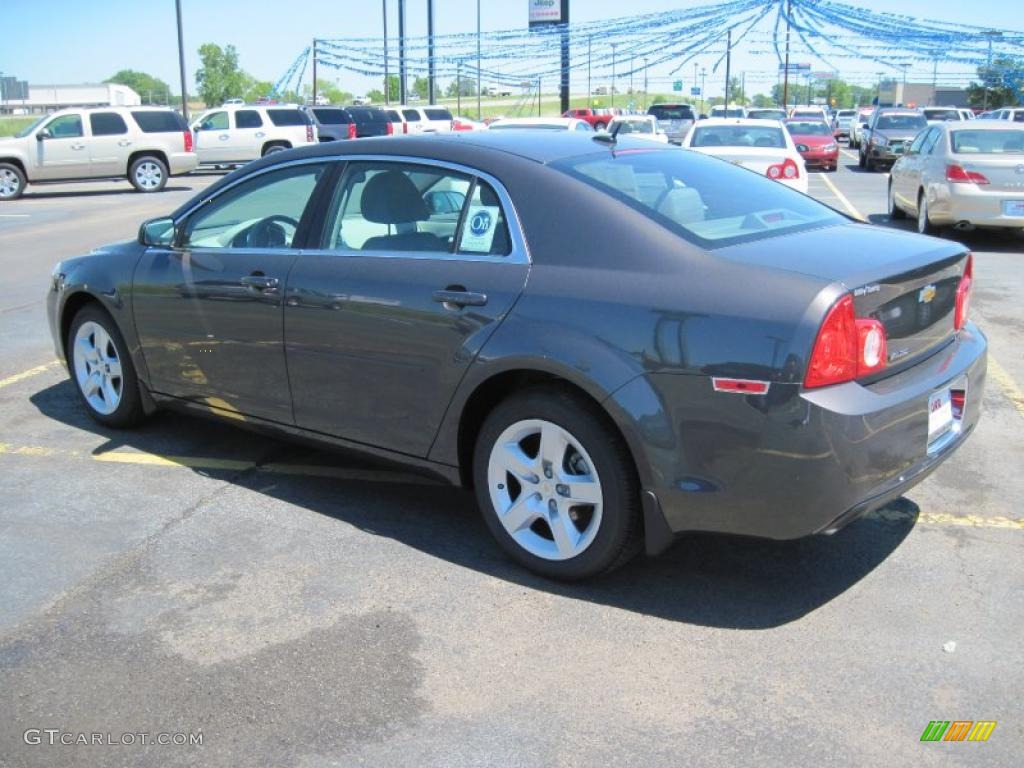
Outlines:
[{"label": "dark grey trunk lid with gold Chevrolet bowtie badge", "polygon": [[957,243],[865,224],[820,227],[716,253],[842,283],[853,293],[857,316],[873,317],[886,329],[884,375],[924,359],[952,338],[956,287],[968,257]]}]

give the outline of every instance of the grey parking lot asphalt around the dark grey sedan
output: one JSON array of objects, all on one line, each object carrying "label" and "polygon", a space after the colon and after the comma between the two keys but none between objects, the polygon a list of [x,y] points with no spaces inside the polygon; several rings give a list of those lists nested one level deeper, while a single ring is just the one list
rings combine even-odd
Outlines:
[{"label": "grey parking lot asphalt around the dark grey sedan", "polygon": [[[983,418],[906,499],[834,537],[690,536],[564,586],[428,478],[193,418],[85,416],[53,361],[50,268],[215,178],[0,207],[0,765],[1019,763],[1020,238],[965,240]],[[880,226],[885,185],[846,152],[811,176]],[[933,720],[997,726],[922,742]]]}]

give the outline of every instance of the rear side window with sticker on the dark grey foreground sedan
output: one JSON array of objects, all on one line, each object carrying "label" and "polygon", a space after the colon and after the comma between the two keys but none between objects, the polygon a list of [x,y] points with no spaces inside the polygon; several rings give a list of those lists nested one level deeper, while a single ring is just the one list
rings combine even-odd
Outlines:
[{"label": "rear side window with sticker on the dark grey foreground sedan", "polygon": [[326,248],[392,253],[509,253],[498,196],[470,175],[406,163],[352,163],[329,215]]}]

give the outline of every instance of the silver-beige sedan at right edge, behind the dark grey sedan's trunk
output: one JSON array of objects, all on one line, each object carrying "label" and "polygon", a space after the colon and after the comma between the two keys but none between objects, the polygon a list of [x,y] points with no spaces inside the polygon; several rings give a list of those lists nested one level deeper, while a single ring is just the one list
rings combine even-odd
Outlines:
[{"label": "silver-beige sedan at right edge, behind the dark grey sedan's trunk", "polygon": [[889,215],[918,230],[1024,229],[1024,125],[953,122],[923,130],[893,165]]}]

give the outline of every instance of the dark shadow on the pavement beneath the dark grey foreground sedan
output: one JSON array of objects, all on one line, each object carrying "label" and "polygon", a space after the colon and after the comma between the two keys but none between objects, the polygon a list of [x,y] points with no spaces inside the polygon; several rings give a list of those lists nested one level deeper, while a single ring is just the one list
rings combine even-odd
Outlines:
[{"label": "dark shadow on the pavement beneath the dark grey foreground sedan", "polygon": [[[135,430],[105,429],[86,416],[70,381],[35,393],[31,401],[44,416],[76,432],[103,437],[94,455],[126,449],[165,457],[238,459],[258,455],[257,465],[287,462],[394,469],[346,453],[309,449],[179,414],[157,414]],[[75,437],[69,434],[68,441],[74,443]],[[193,471],[220,479],[527,589],[674,622],[739,630],[788,624],[842,595],[899,547],[919,514],[916,505],[900,499],[887,507],[885,514],[858,520],[830,537],[773,542],[691,534],[681,537],[659,557],[640,556],[610,574],[581,584],[559,584],[532,575],[501,551],[471,493],[428,477],[422,483],[415,477],[404,482],[366,481],[269,473],[258,466],[182,466],[153,471]],[[61,471],[61,475],[63,482],[74,481],[70,472]],[[97,475],[90,472],[89,477],[95,484]],[[144,494],[144,489],[139,493]],[[253,524],[264,519],[254,515]],[[201,524],[201,520],[196,522]]]}]

